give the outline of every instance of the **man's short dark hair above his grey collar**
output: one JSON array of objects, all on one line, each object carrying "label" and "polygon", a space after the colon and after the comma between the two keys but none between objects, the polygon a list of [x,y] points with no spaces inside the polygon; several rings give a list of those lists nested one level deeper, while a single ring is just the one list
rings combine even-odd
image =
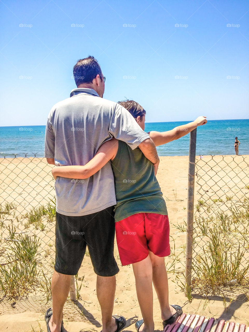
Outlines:
[{"label": "man's short dark hair above his grey collar", "polygon": [[93,79],[98,74],[102,76],[100,65],[91,55],[87,58],[78,60],[73,67],[73,77],[77,86],[81,83],[92,83]]}]

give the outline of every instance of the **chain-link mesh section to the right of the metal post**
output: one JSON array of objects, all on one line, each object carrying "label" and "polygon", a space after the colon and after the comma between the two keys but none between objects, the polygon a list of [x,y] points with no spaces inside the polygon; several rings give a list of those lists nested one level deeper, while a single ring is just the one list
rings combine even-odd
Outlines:
[{"label": "chain-link mesh section to the right of the metal post", "polygon": [[249,286],[249,158],[196,159],[192,293]]}]

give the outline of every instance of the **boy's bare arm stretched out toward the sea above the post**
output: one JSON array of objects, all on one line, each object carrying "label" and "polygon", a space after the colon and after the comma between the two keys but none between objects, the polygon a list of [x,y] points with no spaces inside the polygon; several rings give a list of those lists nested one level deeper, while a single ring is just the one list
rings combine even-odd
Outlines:
[{"label": "boy's bare arm stretched out toward the sea above the post", "polygon": [[185,136],[199,125],[203,125],[206,123],[207,123],[206,117],[198,117],[195,121],[190,122],[188,124],[180,125],[172,130],[163,131],[163,132],[150,131],[148,134],[150,135],[150,138],[153,140],[155,145],[158,146],[174,141],[175,139],[178,139],[182,136]]}]

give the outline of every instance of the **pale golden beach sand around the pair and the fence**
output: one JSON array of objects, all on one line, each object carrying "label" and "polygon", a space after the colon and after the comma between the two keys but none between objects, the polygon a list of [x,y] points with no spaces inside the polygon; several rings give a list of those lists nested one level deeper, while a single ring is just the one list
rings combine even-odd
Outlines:
[{"label": "pale golden beach sand around the pair and the fence", "polygon": [[[215,163],[222,162],[222,156],[215,156]],[[244,165],[244,158],[249,162],[249,156],[224,156],[226,165],[226,174],[231,169],[234,169],[236,164],[233,163],[233,158],[236,158],[236,164],[240,164],[240,168]],[[53,180],[49,175],[46,175],[50,166],[44,163],[44,159],[37,158],[31,160],[25,158],[15,158],[16,160],[0,160],[0,180],[4,180],[0,185],[0,197],[1,202],[3,200],[16,201],[19,203],[17,207],[17,213],[30,207],[35,207],[40,202],[47,202],[49,198],[53,196]],[[210,156],[203,156],[198,161],[198,165],[205,169],[205,164]],[[25,162],[25,163],[24,163]],[[222,166],[222,164],[221,164]],[[222,166],[223,167],[223,166]],[[221,168],[222,168],[221,167]],[[239,174],[238,166],[235,170],[236,174]],[[243,168],[243,167],[242,167]],[[224,169],[224,167],[223,167]],[[205,170],[205,172],[210,170]],[[204,173],[205,173],[204,172]],[[211,170],[212,172],[212,170]],[[15,173],[15,175],[13,175]],[[36,175],[39,173],[39,175]],[[243,181],[248,181],[248,168],[243,171],[245,178]],[[29,176],[25,175],[29,174]],[[242,173],[241,173],[242,174]],[[8,178],[6,179],[6,175]],[[16,177],[18,175],[18,178]],[[231,175],[231,174],[230,174]],[[209,176],[208,174],[206,176]],[[217,175],[211,175],[211,178],[215,179]],[[233,175],[234,176],[234,175]],[[230,176],[230,178],[233,178]],[[14,179],[17,179],[15,181]],[[175,255],[179,254],[179,258],[182,263],[176,265],[177,271],[184,271],[184,248],[186,245],[186,232],[180,232],[176,228],[176,225],[182,224],[184,220],[187,220],[187,186],[188,186],[188,157],[187,156],[174,156],[174,157],[160,157],[160,165],[158,170],[157,179],[161,186],[163,196],[166,200],[169,220],[170,220],[170,235],[171,248]],[[207,177],[209,179],[209,177]],[[196,180],[198,180],[196,178]],[[216,178],[218,181],[218,178]],[[225,179],[225,183],[231,180]],[[239,184],[237,180],[236,184]],[[203,188],[203,192],[200,191],[200,187]],[[231,191],[230,185],[226,185],[227,189],[223,188],[222,194],[228,195]],[[249,196],[249,190],[243,188],[241,197],[243,195]],[[205,186],[195,186],[195,204],[203,194],[205,194]],[[213,188],[213,192],[209,192],[209,197],[213,198],[218,195],[217,188]],[[207,195],[207,193],[206,193]],[[208,198],[208,197],[207,197]],[[240,198],[240,197],[239,197]],[[6,217],[6,223],[8,222]],[[19,223],[19,229],[25,231],[24,227]],[[50,242],[50,239],[54,239],[54,223],[47,223],[45,231],[41,232],[36,230],[35,232],[42,233],[42,241],[45,244]],[[2,239],[4,238],[2,234]],[[45,249],[47,248],[44,247]],[[51,259],[53,259],[53,246],[51,247]],[[44,249],[44,250],[45,250]],[[45,252],[45,251],[44,251]],[[47,258],[44,258],[44,252],[41,254],[41,262],[44,260],[44,264],[47,262]],[[135,281],[131,266],[122,267],[119,260],[118,248],[115,241],[115,258],[120,268],[120,272],[117,275],[117,289],[114,303],[114,314],[122,314],[127,320],[126,331],[135,331],[135,321],[141,319],[141,312],[139,309],[138,301],[136,299]],[[173,261],[173,256],[166,258],[165,262],[167,267]],[[170,269],[172,270],[172,268]],[[80,290],[81,300],[79,300],[79,308],[71,301],[67,301],[64,310],[64,328],[70,332],[84,331],[101,331],[101,314],[100,306],[96,295],[96,275],[93,272],[90,257],[85,257],[82,266],[78,273],[79,277],[84,276],[82,288]],[[179,285],[174,283],[176,281],[175,274],[168,273],[169,282],[169,297],[171,304],[179,304],[183,307],[186,313],[195,313],[199,315],[206,315],[209,317],[215,317],[225,320],[236,320],[236,317],[241,323],[248,323],[249,321],[249,305],[248,299],[244,295],[244,290],[237,289],[230,290],[230,294],[226,295],[230,298],[237,299],[232,302],[227,309],[224,308],[221,296],[200,296],[193,295],[192,302],[189,302],[187,297],[181,291]],[[81,282],[78,281],[80,284]],[[154,291],[154,290],[153,290]],[[16,304],[13,308],[6,298],[0,299],[0,330],[8,330],[10,332],[28,332],[32,331],[32,327],[35,331],[46,331],[46,325],[44,322],[44,311],[51,305],[51,301],[46,303],[46,299],[42,296],[41,292],[36,294],[30,294],[28,298],[16,300]],[[84,306],[83,315],[80,314],[80,308]],[[160,308],[157,300],[156,292],[154,291],[154,322],[155,330],[162,331],[162,320],[160,318]]]}]

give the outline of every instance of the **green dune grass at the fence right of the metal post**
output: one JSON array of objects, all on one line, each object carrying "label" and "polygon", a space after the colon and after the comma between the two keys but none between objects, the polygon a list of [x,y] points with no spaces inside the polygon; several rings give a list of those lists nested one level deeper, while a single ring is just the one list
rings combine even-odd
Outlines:
[{"label": "green dune grass at the fence right of the metal post", "polygon": [[248,199],[240,206],[226,211],[219,208],[211,217],[196,219],[192,289],[217,295],[222,287],[249,286],[248,248]]}]

